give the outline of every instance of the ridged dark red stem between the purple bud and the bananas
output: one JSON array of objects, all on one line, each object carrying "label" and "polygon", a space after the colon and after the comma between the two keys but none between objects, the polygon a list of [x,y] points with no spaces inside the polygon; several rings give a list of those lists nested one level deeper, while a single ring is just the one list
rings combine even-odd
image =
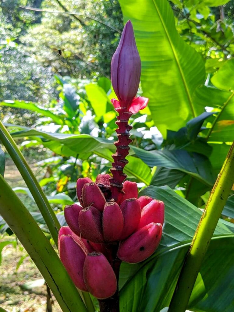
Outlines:
[{"label": "ridged dark red stem between the purple bud and the bananas", "polygon": [[118,202],[118,197],[122,193],[123,182],[127,178],[127,175],[123,173],[123,169],[128,163],[125,157],[129,154],[129,144],[132,142],[129,139],[129,131],[132,127],[128,124],[132,113],[127,110],[127,107],[118,107],[115,110],[119,113],[119,116],[117,116],[118,120],[115,122],[118,126],[115,130],[118,141],[114,143],[116,153],[112,155],[114,162],[112,163],[113,168],[110,169],[113,175],[113,178],[110,178],[110,188],[112,198]]}]

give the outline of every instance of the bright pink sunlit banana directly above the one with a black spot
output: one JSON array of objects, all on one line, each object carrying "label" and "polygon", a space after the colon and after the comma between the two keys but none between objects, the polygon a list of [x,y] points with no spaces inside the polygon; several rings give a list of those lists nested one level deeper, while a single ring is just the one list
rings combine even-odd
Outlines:
[{"label": "bright pink sunlit banana directly above the one with a black spot", "polygon": [[157,199],[152,200],[142,209],[138,228],[144,227],[151,222],[161,223],[162,225],[164,222],[164,203]]}]

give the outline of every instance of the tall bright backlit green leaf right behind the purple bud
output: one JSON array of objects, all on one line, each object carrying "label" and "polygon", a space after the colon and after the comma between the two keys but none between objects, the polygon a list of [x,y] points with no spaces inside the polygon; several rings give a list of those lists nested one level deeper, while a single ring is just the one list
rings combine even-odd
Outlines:
[{"label": "tall bright backlit green leaf right behind the purple bud", "polygon": [[203,83],[202,57],[179,36],[167,0],[119,0],[124,21],[130,19],[142,62],[141,84],[149,108],[163,136],[178,130],[204,108],[193,102]]}]

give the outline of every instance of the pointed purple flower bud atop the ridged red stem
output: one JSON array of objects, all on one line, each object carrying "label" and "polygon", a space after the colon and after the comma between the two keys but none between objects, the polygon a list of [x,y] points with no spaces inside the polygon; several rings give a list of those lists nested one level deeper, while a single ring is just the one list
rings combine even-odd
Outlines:
[{"label": "pointed purple flower bud atop the ridged red stem", "polygon": [[128,21],[111,61],[111,81],[120,106],[127,107],[131,104],[139,88],[140,75],[140,56],[132,23]]}]

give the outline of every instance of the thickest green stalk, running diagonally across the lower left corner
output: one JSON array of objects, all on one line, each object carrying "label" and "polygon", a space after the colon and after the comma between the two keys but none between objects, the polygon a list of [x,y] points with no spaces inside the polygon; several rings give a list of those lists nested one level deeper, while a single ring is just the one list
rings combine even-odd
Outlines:
[{"label": "thickest green stalk, running diagonally across the lower left corner", "polygon": [[0,214],[32,258],[63,312],[86,312],[76,286],[27,208],[0,175]]}]

